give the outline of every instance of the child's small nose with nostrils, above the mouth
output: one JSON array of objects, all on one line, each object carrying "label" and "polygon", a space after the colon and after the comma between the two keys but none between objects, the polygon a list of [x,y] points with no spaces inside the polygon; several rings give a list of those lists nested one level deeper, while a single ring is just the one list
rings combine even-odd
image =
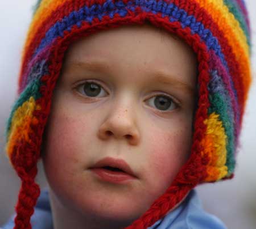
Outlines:
[{"label": "child's small nose with nostrils, above the mouth", "polygon": [[125,139],[130,145],[138,145],[139,131],[132,116],[127,108],[112,111],[100,126],[98,137],[102,140]]}]

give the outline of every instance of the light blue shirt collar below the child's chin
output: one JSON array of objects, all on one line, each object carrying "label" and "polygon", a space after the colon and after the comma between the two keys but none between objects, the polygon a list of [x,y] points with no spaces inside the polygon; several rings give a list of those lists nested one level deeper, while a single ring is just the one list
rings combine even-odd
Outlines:
[{"label": "light blue shirt collar below the child's chin", "polygon": [[[13,229],[13,215],[0,229]],[[31,217],[32,229],[53,229],[51,206],[48,190],[42,190],[35,212]],[[185,200],[165,217],[147,229],[227,229],[220,219],[204,211],[195,189],[191,190]]]}]

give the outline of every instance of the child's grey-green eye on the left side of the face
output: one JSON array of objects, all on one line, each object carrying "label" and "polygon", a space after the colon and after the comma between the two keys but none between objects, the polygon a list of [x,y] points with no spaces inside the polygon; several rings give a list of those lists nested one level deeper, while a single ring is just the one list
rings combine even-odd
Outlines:
[{"label": "child's grey-green eye on the left side of the face", "polygon": [[88,81],[79,84],[79,86],[77,86],[77,91],[87,97],[97,97],[98,95],[100,95],[100,97],[104,97],[105,95],[102,96],[102,94],[106,94],[105,90],[99,83]]}]

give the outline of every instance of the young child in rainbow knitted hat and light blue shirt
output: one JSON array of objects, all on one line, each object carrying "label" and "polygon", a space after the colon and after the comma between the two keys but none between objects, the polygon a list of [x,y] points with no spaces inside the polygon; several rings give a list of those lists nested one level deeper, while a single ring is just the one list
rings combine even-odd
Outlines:
[{"label": "young child in rainbow knitted hat and light blue shirt", "polygon": [[22,187],[2,228],[226,228],[193,188],[233,177],[249,57],[243,1],[39,1],[6,130]]}]

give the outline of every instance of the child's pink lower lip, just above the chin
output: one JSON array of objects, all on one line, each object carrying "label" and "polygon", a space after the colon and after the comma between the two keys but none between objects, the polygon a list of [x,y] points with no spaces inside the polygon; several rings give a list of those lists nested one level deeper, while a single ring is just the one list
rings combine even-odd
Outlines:
[{"label": "child's pink lower lip, just above the chin", "polygon": [[91,168],[90,171],[96,173],[102,180],[110,183],[119,184],[135,179],[134,176],[131,176],[128,173],[115,172],[105,168]]}]

